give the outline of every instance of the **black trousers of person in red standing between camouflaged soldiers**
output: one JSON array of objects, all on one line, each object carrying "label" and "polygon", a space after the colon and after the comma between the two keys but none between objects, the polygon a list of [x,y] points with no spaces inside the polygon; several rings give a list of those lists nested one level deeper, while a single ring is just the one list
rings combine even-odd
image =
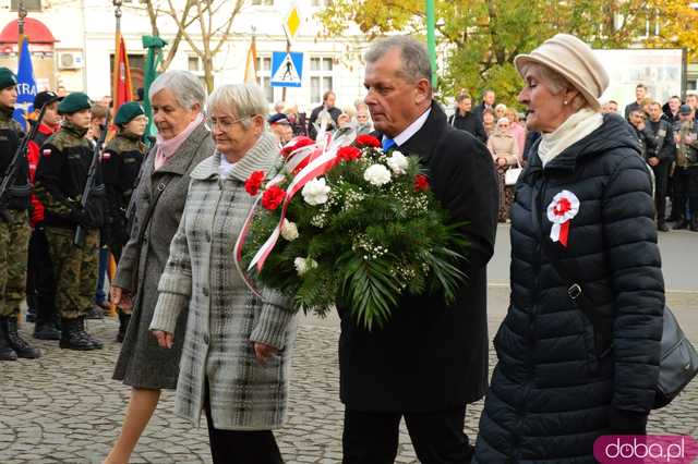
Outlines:
[{"label": "black trousers of person in red standing between camouflaged soldiers", "polygon": [[48,322],[56,317],[53,305],[53,265],[44,227],[37,224],[29,237],[26,267],[26,294],[36,304],[36,317]]}]

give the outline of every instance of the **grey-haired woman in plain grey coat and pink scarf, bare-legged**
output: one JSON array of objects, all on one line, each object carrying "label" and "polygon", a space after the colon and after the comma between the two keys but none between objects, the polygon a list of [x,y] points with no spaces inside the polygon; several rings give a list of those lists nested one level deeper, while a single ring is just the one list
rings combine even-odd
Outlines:
[{"label": "grey-haired woman in plain grey coat and pink scarf, bare-legged", "polygon": [[131,235],[111,285],[111,302],[121,310],[132,310],[113,378],[132,390],[121,435],[105,461],[108,464],[129,462],[160,391],[177,386],[186,310],[179,315],[181,323],[171,349],[159,346],[148,327],[157,284],[184,209],[190,173],[214,152],[202,112],[206,94],[197,76],[186,71],[165,72],[153,82],[148,97],[157,143],[139,174],[131,202],[135,207]]}]

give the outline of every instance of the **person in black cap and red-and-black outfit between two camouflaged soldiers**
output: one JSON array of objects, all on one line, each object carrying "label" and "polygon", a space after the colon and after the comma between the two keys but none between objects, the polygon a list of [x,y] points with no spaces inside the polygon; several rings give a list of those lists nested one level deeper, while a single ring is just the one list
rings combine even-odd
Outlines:
[{"label": "person in black cap and red-and-black outfit between two camouflaged soldiers", "polygon": [[[40,147],[60,129],[62,117],[58,113],[58,103],[62,100],[53,91],[39,91],[34,97],[34,118],[28,119],[36,124],[37,118],[46,107],[41,123],[36,130],[34,139],[27,145],[26,158],[29,163],[29,182],[34,184],[36,168],[41,158]],[[48,242],[44,231],[44,205],[33,193],[31,198],[29,251],[27,259],[26,301],[29,308],[34,307],[35,326],[34,338],[39,340],[60,340],[58,328],[59,318],[55,305],[53,265],[51,262]],[[27,312],[28,313],[28,312]]]}]

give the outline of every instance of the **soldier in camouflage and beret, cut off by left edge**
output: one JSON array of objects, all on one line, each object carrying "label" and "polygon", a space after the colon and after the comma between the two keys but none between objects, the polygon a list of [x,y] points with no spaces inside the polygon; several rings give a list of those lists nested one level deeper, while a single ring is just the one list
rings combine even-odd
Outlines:
[{"label": "soldier in camouflage and beret, cut off by left edge", "polygon": [[[0,68],[0,176],[5,175],[24,136],[20,124],[12,119],[17,101],[16,86],[14,73]],[[26,293],[26,254],[31,235],[27,210],[32,190],[26,158],[21,156],[17,162],[7,199],[0,204],[0,361],[41,355],[17,332],[20,305]]]}]

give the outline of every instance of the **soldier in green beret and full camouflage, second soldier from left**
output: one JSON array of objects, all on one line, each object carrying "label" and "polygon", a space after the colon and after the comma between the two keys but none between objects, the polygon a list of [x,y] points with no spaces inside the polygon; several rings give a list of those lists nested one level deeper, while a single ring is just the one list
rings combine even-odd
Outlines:
[{"label": "soldier in green beret and full camouflage, second soldier from left", "polygon": [[[99,164],[87,204],[84,207],[81,204],[93,159],[93,147],[85,138],[91,108],[87,95],[77,91],[58,105],[64,121],[41,146],[34,185],[44,204],[45,233],[53,264],[56,307],[61,316],[59,346],[68,350],[104,346],[85,331],[85,315],[92,309],[97,284],[99,228],[105,216]],[[83,246],[73,244],[77,225],[85,232]]]}]

